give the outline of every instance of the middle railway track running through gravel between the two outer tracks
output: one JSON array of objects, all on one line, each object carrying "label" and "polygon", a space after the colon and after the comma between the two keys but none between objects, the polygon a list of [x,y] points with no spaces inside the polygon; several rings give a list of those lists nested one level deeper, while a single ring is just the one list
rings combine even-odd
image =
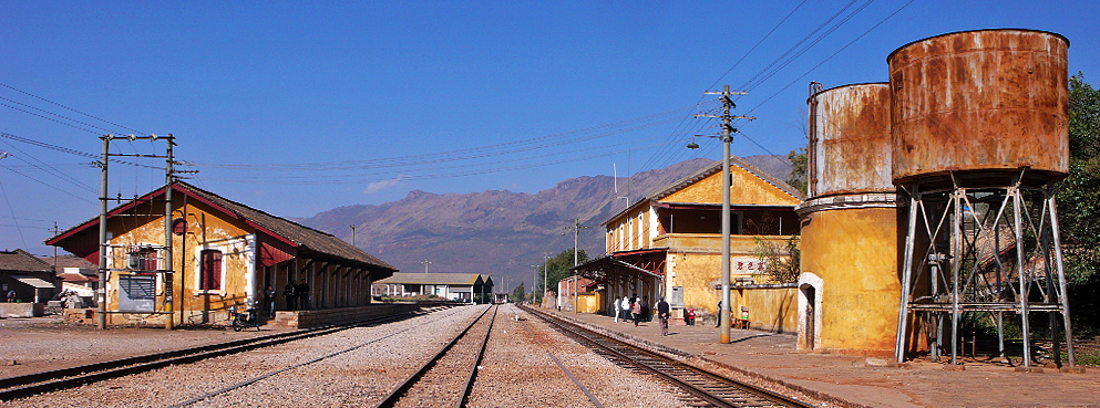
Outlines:
[{"label": "middle railway track running through gravel between the two outer tracks", "polygon": [[[493,314],[489,316],[487,323],[485,323],[485,318],[486,315],[489,314],[490,308],[493,310]],[[415,405],[418,407],[425,406],[424,402],[428,401],[424,399],[426,398],[420,398],[420,400],[414,400],[418,399],[417,397],[418,395],[424,395],[424,394],[431,395],[433,398],[433,400],[431,401],[432,404],[430,404],[429,406],[439,406],[439,407],[465,406],[465,401],[470,397],[470,391],[473,388],[474,379],[477,376],[477,366],[481,365],[481,359],[485,355],[485,347],[489,345],[489,336],[493,332],[493,323],[496,321],[496,312],[498,310],[500,310],[500,305],[493,305],[492,307],[486,307],[485,311],[477,316],[477,318],[473,320],[461,333],[459,333],[459,335],[454,336],[454,338],[451,339],[451,342],[449,342],[443,347],[440,347],[440,349],[435,353],[435,355],[432,356],[432,358],[430,358],[428,362],[421,365],[421,367],[417,372],[414,372],[404,380],[399,383],[398,386],[394,387],[393,390],[391,390],[385,396],[385,398],[383,398],[381,401],[374,405],[374,407],[389,408],[389,407],[395,407],[398,405],[410,405],[410,404]],[[484,331],[479,329],[476,333],[471,333],[474,326],[477,325],[483,326]],[[476,334],[477,337],[472,337],[471,336],[472,334]],[[455,347],[456,345],[463,342],[465,342],[463,345],[466,348]],[[473,351],[475,351],[475,353],[470,353],[472,352],[470,348],[474,348]],[[475,356],[472,356],[472,354],[475,354]],[[445,359],[451,359],[450,365],[443,366],[441,364]],[[454,365],[459,365],[459,366],[465,365],[465,369],[455,373],[453,370]],[[423,390],[423,389],[420,389],[418,393],[418,387],[431,388],[433,386],[439,387],[440,384],[444,384],[444,385],[453,384],[454,383],[453,378],[456,375],[461,375],[461,374],[466,374],[466,378],[464,384],[462,384],[460,393],[453,394],[452,393],[453,388],[448,388],[446,391],[443,393],[446,395],[455,396],[455,399],[453,401],[450,401],[452,402],[450,405],[446,404],[448,401],[434,400],[434,398],[438,398],[441,393],[432,394],[430,390]],[[414,400],[414,401],[407,401],[407,400]]]}]

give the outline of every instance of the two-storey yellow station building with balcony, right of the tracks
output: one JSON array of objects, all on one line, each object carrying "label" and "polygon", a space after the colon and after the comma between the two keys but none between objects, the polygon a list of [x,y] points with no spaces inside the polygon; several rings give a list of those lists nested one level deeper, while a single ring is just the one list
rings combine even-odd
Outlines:
[{"label": "two-storey yellow station building with balcony, right of the tracks", "polygon": [[[784,331],[796,326],[795,285],[757,284],[764,261],[761,242],[783,247],[799,234],[794,212],[800,193],[739,157],[731,157],[730,253],[733,311],[752,310],[753,326]],[[647,196],[604,226],[606,254],[574,269],[595,282],[599,311],[616,299],[638,296],[650,306],[666,297],[675,321],[686,308],[717,315],[721,300],[721,163]]]}]

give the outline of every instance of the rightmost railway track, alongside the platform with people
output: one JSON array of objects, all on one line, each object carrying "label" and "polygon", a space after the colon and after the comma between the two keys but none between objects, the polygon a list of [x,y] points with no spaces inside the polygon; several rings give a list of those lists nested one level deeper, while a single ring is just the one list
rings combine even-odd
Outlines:
[{"label": "rightmost railway track, alongside the platform with people", "polygon": [[811,407],[806,402],[767,390],[751,384],[693,367],[665,355],[650,352],[617,338],[593,332],[572,322],[559,320],[543,311],[521,306],[547,322],[558,332],[592,347],[613,362],[649,373],[683,390],[695,399],[690,404],[713,407]]}]

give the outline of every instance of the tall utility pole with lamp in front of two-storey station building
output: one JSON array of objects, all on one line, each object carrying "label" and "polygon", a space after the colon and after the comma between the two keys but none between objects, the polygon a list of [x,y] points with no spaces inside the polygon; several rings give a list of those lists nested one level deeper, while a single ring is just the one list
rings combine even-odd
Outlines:
[{"label": "tall utility pole with lamp in front of two-storey station building", "polygon": [[[721,92],[705,92],[707,95],[722,95],[721,115],[696,115],[696,117],[717,117],[722,119],[722,305],[718,311],[718,324],[722,326],[722,344],[730,343],[730,142],[732,134],[737,132],[731,122],[733,119],[749,119],[749,116],[730,116],[730,109],[737,107],[730,95],[744,95],[746,92],[730,92],[730,85]],[[692,145],[695,145],[692,143]],[[695,145],[699,147],[698,145]],[[690,145],[688,147],[691,147]]]}]

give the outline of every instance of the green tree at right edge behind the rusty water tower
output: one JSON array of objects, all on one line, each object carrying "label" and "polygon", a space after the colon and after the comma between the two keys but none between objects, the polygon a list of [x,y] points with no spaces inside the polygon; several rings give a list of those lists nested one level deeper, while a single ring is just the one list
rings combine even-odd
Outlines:
[{"label": "green tree at right edge behind the rusty water tower", "polygon": [[1069,176],[1058,189],[1067,280],[1100,280],[1100,91],[1069,79]]}]

